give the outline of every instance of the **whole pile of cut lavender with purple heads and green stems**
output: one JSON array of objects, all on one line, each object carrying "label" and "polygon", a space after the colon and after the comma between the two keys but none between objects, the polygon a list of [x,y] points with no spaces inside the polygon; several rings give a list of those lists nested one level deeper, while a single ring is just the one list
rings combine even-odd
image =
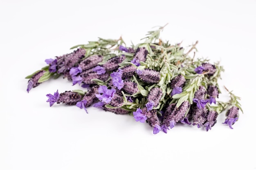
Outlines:
[{"label": "whole pile of cut lavender with purple heads and green stems", "polygon": [[115,114],[130,114],[135,121],[148,123],[154,134],[160,130],[167,133],[178,122],[208,131],[227,110],[223,124],[232,128],[243,110],[240,98],[228,90],[230,100],[218,101],[223,67],[195,59],[195,52],[190,57],[198,42],[184,53],[181,43],[162,41],[159,34],[163,28],[149,31],[141,39],[144,42],[129,47],[122,38],[99,38],[73,46],[76,50],[72,53],[45,60],[47,66],[27,76],[27,92],[62,76],[88,90],[47,94],[50,106],[76,105],[87,112],[93,105]]}]

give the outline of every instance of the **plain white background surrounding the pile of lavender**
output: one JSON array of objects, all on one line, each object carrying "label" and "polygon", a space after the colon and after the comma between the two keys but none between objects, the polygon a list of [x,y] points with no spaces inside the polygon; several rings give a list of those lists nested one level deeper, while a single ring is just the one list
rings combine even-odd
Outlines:
[{"label": "plain white background surrounding the pile of lavender", "polygon": [[[256,169],[256,1],[1,0],[0,170]],[[127,44],[153,26],[197,57],[220,61],[220,86],[240,96],[244,114],[234,129],[218,117],[212,130],[177,125],[153,135],[128,115],[46,102],[48,93],[81,89],[49,80],[27,93],[25,77],[70,47],[122,36]],[[222,88],[220,101],[226,101]]]}]

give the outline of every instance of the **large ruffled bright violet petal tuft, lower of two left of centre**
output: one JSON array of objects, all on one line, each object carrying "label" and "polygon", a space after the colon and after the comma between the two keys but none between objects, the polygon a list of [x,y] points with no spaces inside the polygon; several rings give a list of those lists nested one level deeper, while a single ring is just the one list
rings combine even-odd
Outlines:
[{"label": "large ruffled bright violet petal tuft, lower of two left of centre", "polygon": [[[102,102],[109,103],[114,97],[114,94],[116,93],[115,89],[108,89],[107,86],[99,86],[99,94],[96,94],[95,96]],[[102,93],[102,94],[101,94]]]}]

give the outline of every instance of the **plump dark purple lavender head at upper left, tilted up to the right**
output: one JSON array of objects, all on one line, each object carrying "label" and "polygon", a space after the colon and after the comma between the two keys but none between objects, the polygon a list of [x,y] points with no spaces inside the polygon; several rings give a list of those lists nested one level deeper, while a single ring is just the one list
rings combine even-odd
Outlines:
[{"label": "plump dark purple lavender head at upper left, tilted up to the right", "polygon": [[77,49],[73,53],[65,54],[61,57],[56,57],[57,61],[57,70],[58,73],[69,72],[70,69],[77,63],[81,61],[81,59],[85,55],[85,49]]}]

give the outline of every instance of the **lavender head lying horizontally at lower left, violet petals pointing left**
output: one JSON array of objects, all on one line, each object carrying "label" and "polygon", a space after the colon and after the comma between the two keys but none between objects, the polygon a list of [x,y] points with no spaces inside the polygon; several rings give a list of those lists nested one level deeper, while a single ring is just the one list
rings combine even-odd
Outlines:
[{"label": "lavender head lying horizontally at lower left, violet petals pointing left", "polygon": [[46,96],[49,98],[46,102],[49,102],[50,106],[52,106],[55,102],[57,104],[63,103],[68,105],[75,105],[82,99],[82,96],[79,95],[79,93],[72,91],[65,91],[64,93],[59,94],[57,90],[54,95],[47,94]]}]

